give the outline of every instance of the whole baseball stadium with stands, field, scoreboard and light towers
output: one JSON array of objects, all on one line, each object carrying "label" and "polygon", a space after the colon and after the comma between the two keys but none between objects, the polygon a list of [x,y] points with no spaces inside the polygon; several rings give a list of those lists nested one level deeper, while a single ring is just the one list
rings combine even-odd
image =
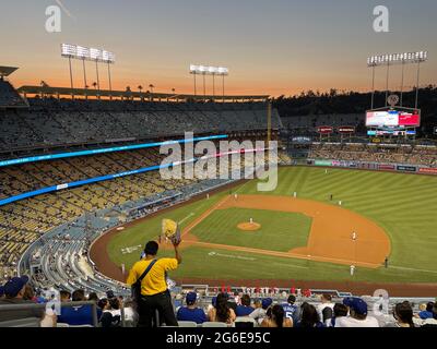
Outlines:
[{"label": "whole baseball stadium with stands, field, scoreboard and light towers", "polygon": [[[0,57],[0,326],[47,326],[54,316],[13,316],[2,302],[21,292],[36,308],[51,292],[92,310],[88,323],[55,313],[57,327],[105,327],[102,314],[119,309],[117,326],[137,326],[126,315],[128,279],[151,255],[147,242],[163,261],[178,251],[166,292],[178,316],[196,301],[204,327],[238,323],[210,318],[223,294],[238,306],[244,297],[264,310],[293,297],[353,313],[355,299],[366,315],[387,302],[386,314],[369,311],[377,327],[399,321],[392,312],[408,303],[414,326],[436,322],[437,87],[420,74],[435,63],[428,51],[369,49],[359,62],[373,77],[366,92],[285,97],[229,93],[234,71],[222,65],[185,67],[193,81],[185,93],[119,88],[115,53],[55,50],[66,84],[16,85],[25,67]],[[387,69],[389,79],[392,65],[402,67],[402,86],[377,88],[376,74]],[[329,327],[334,315],[320,314]],[[185,320],[178,325],[192,325]]]}]

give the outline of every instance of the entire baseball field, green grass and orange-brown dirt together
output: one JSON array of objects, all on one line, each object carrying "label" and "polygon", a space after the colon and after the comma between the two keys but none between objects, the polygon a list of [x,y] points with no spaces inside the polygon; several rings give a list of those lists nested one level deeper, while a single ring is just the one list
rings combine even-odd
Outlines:
[{"label": "entire baseball field, green grass and orange-brown dirt together", "polygon": [[[283,167],[273,192],[258,192],[251,180],[203,195],[107,233],[91,256],[104,274],[122,280],[120,265],[129,269],[144,243],[157,239],[162,219],[170,218],[184,237],[184,262],[170,274],[177,280],[310,281],[343,290],[392,284],[436,292],[436,177]],[[173,255],[170,244],[161,248],[160,256]]]}]

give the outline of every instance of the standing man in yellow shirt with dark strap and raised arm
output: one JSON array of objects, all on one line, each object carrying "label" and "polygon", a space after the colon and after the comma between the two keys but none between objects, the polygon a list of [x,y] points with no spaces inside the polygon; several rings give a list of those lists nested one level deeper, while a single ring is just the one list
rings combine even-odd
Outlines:
[{"label": "standing man in yellow shirt with dark strap and raised arm", "polygon": [[[132,286],[144,273],[151,263],[154,262],[149,273],[141,281],[141,296],[138,304],[139,327],[157,326],[154,323],[156,311],[160,315],[160,323],[165,323],[167,326],[177,326],[175,312],[173,310],[170,293],[167,289],[165,280],[166,273],[175,270],[182,262],[178,251],[179,242],[173,244],[175,248],[174,258],[156,260],[158,244],[156,241],[149,241],[145,244],[145,256],[137,262],[128,276],[127,284]],[[160,325],[161,325],[160,324]]]}]

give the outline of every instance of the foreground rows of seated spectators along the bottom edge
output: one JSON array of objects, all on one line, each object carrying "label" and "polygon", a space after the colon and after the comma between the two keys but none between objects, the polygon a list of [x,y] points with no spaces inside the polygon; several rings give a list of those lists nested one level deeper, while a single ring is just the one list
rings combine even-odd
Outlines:
[{"label": "foreground rows of seated spectators along the bottom edge", "polygon": [[[91,304],[66,306],[69,302],[93,301],[97,306],[97,321],[101,327],[135,326],[139,323],[133,299],[114,294],[113,291],[97,296],[85,294],[78,289],[72,293],[61,290],[59,301],[63,306],[59,312],[47,306],[52,300],[34,290],[26,276],[10,278],[0,286],[0,326],[1,322],[37,317],[42,327],[94,326]],[[319,299],[296,303],[296,296],[290,294],[286,302],[275,302],[272,298],[252,299],[249,294],[220,292],[206,306],[198,303],[196,291],[185,296],[185,305],[175,308],[178,322],[193,322],[198,326],[204,323],[223,323],[231,327],[437,327],[437,303],[420,304],[418,312],[413,311],[409,301],[397,303],[389,314],[370,309],[363,298],[346,297],[332,302],[330,294]],[[1,310],[2,305],[46,304],[39,309]],[[122,309],[122,312],[121,312]],[[58,313],[59,312],[59,313]],[[126,325],[128,324],[128,325]],[[166,324],[162,324],[166,326]],[[177,324],[173,324],[176,325]]]}]

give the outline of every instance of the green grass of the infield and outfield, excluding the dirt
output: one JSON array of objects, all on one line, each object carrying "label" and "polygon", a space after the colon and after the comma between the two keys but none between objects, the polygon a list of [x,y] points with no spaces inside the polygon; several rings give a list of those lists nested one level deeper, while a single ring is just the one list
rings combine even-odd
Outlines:
[{"label": "green grass of the infield and outfield, excluding the dirt", "polygon": [[[275,191],[257,191],[257,180],[246,182],[233,192],[240,194],[292,195],[328,204],[329,195],[341,200],[343,208],[354,210],[377,222],[391,240],[390,267],[367,269],[359,267],[353,280],[386,282],[437,282],[437,178],[391,172],[359,170],[290,167],[280,168],[279,184]],[[127,267],[138,261],[140,250],[121,254],[126,246],[143,245],[155,239],[161,230],[161,219],[172,218],[182,221],[185,227],[218,202],[229,192],[213,195],[189,205],[167,212],[126,229],[114,237],[108,244],[110,258]],[[255,216],[253,209],[250,215]],[[302,215],[260,212],[252,217],[262,222],[257,232],[237,231],[235,226],[248,219],[244,209],[215,210],[198,225],[193,233],[200,241],[287,251],[305,245],[309,218]],[[297,233],[284,237],[284,227],[299,226]],[[282,227],[282,228],[281,228]],[[264,231],[264,229],[268,230]],[[259,233],[259,239],[253,234]],[[274,233],[276,232],[276,233]],[[162,251],[162,255],[172,255]],[[302,280],[351,280],[349,267],[321,262],[282,258],[251,253],[211,250],[190,246],[184,250],[184,263],[172,274],[173,277],[226,278],[226,279],[302,279]]]}]

